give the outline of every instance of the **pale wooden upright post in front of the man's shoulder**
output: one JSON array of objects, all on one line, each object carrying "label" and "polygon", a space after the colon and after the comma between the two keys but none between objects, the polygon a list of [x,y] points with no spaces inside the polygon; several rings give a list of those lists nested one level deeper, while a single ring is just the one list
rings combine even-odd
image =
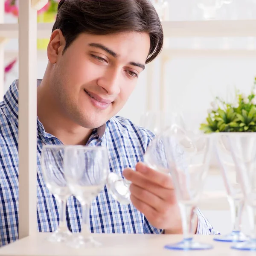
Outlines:
[{"label": "pale wooden upright post in front of the man's shoulder", "polygon": [[37,232],[37,11],[19,1],[19,239]]}]

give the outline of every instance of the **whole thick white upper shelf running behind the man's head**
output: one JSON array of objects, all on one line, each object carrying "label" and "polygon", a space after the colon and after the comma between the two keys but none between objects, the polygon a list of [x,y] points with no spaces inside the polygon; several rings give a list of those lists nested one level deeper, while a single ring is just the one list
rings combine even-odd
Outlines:
[{"label": "whole thick white upper shelf running behind the man's head", "polygon": [[[166,37],[253,37],[256,20],[164,21]],[[48,38],[53,23],[38,23],[38,38]],[[0,37],[18,38],[18,24],[0,24]]]}]

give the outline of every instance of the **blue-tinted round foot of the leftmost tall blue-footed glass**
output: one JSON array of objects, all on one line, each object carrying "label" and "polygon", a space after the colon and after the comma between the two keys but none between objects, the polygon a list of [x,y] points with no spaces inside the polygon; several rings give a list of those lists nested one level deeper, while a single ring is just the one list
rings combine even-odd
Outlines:
[{"label": "blue-tinted round foot of the leftmost tall blue-footed glass", "polygon": [[177,244],[167,244],[164,248],[169,250],[209,250],[212,249],[213,246],[211,244],[202,244],[193,241],[192,238],[188,238],[183,239]]}]

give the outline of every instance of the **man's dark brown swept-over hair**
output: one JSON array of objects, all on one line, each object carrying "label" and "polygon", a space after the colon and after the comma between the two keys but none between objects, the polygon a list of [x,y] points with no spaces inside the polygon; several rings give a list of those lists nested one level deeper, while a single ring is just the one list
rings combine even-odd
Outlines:
[{"label": "man's dark brown swept-over hair", "polygon": [[146,63],[153,61],[163,48],[163,28],[149,0],[61,0],[52,32],[55,29],[60,29],[66,40],[64,51],[83,32],[146,32],[150,36]]}]

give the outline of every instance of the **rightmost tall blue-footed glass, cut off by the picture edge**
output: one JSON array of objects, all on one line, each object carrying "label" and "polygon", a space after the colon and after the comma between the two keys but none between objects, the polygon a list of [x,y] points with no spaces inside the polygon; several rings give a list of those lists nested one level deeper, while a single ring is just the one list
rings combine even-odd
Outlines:
[{"label": "rightmost tall blue-footed glass, cut off by the picture edge", "polygon": [[227,133],[230,148],[238,171],[245,203],[248,207],[251,234],[248,241],[236,243],[231,248],[237,250],[256,250],[256,133]]}]

